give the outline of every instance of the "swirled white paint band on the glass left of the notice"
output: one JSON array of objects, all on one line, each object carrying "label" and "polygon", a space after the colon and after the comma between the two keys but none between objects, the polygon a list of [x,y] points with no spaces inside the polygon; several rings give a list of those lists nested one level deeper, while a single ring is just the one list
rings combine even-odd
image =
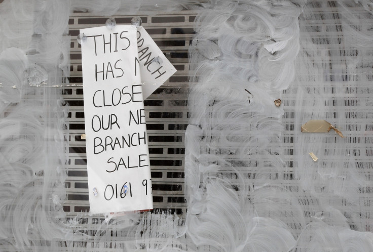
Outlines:
[{"label": "swirled white paint band on the glass left of the notice", "polygon": [[[5,1],[0,10],[0,246],[26,251],[72,235],[61,205],[67,160],[61,91],[30,87],[60,83],[60,71],[68,67],[69,44],[61,29],[67,31],[67,19],[59,17],[68,18],[69,6]],[[61,52],[66,60],[60,61]]]}]

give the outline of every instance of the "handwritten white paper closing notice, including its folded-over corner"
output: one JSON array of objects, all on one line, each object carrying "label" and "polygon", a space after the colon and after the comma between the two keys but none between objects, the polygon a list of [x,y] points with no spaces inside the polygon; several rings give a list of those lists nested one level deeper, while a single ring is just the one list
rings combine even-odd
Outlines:
[{"label": "handwritten white paper closing notice, including its folded-over corner", "polygon": [[80,33],[90,212],[153,209],[143,100],[176,70],[142,27]]}]

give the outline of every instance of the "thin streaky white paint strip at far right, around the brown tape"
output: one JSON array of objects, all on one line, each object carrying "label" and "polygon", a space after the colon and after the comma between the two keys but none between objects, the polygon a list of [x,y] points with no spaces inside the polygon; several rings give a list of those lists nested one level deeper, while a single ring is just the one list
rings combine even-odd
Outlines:
[{"label": "thin streaky white paint strip at far right, around the brown tape", "polygon": [[[287,99],[296,97],[291,104],[293,108],[288,108],[294,112],[295,130],[309,119],[326,119],[347,136],[340,138],[336,133],[309,136],[294,131],[294,176],[300,188],[309,194],[303,202],[311,217],[294,249],[370,251],[371,233],[357,231],[370,231],[371,224],[370,200],[362,198],[370,197],[366,189],[372,186],[365,174],[370,161],[362,161],[370,142],[363,136],[367,127],[363,118],[371,116],[370,112],[362,111],[371,104],[362,97],[370,93],[371,70],[365,65],[372,60],[366,50],[373,34],[368,34],[365,21],[359,21],[355,8],[346,7],[343,2],[336,8],[340,15],[337,20],[325,26],[317,23],[325,40],[310,32],[310,25],[316,29],[315,19],[320,18],[319,14],[308,13],[301,18],[302,57],[296,59],[296,81],[285,95]],[[322,14],[330,15],[327,11]],[[353,28],[359,24],[361,31]],[[331,34],[337,29],[338,38]],[[325,43],[326,39],[330,45]],[[365,89],[368,92],[361,92]],[[352,102],[354,99],[356,103]],[[317,162],[305,158],[309,151],[315,152]]]}]

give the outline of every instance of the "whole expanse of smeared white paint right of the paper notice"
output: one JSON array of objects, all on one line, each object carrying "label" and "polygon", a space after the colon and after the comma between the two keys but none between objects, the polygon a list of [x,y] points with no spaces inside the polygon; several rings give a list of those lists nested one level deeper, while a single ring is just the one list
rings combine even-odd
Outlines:
[{"label": "whole expanse of smeared white paint right of the paper notice", "polygon": [[[346,139],[338,137],[334,143],[325,140],[325,135],[307,136],[300,131],[302,123],[332,118],[335,110],[337,117],[332,123],[345,125],[348,107],[333,104],[333,99],[351,99],[346,94],[347,87],[370,83],[371,79],[366,84],[343,82],[346,69],[350,74],[360,73],[360,64],[368,61],[366,54],[359,58],[341,57],[339,53],[345,47],[359,49],[369,44],[371,32],[350,26],[359,23],[357,14],[368,14],[354,13],[353,8],[342,4],[339,13],[347,10],[347,14],[342,14],[345,18],[328,24],[337,27],[342,21],[347,26],[342,26],[343,43],[337,47],[335,43],[315,45],[310,27],[305,25],[319,25],[317,15],[332,14],[327,8],[325,14],[314,14],[307,4],[297,4],[219,1],[196,19],[198,33],[191,48],[191,61],[197,83],[192,85],[189,97],[192,117],[185,134],[185,184],[189,203],[187,234],[201,250],[342,251],[352,246],[371,250],[371,234],[354,231],[367,230],[368,220],[364,222],[358,215],[361,207],[370,203],[359,198],[359,191],[370,188],[371,182],[358,173],[355,159],[346,154],[351,151]],[[336,39],[325,30],[318,34],[330,43]],[[206,41],[211,44],[209,49]],[[341,51],[328,57],[328,50],[336,48]],[[312,56],[308,57],[306,51]],[[325,67],[328,65],[321,64],[329,61],[332,72]],[[371,74],[371,69],[366,71]],[[335,82],[324,81],[329,74]],[[281,91],[289,86],[281,97]],[[333,94],[324,90],[330,87]],[[273,105],[277,98],[283,101],[279,108]],[[361,106],[369,105],[362,101]],[[294,111],[294,119],[286,116],[282,120],[282,114],[288,111]],[[292,120],[294,161],[293,166],[287,167],[283,154],[292,145],[281,146],[282,123]],[[363,124],[367,121],[350,123],[361,123],[361,129],[365,129]],[[368,145],[354,148],[363,153]],[[318,162],[307,156],[311,151],[319,157]],[[290,180],[290,176],[296,180]],[[364,212],[368,215],[371,211],[365,208]],[[255,233],[251,221],[258,217],[268,221],[264,227],[269,229],[273,220],[286,225],[249,239]],[[322,225],[317,224],[319,219]],[[351,243],[347,234],[361,240],[361,244]],[[262,244],[262,239],[277,247],[249,247]]]}]

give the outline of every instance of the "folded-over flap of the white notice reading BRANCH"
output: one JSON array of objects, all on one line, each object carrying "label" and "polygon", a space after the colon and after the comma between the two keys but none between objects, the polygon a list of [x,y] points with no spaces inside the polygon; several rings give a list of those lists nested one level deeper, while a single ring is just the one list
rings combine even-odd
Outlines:
[{"label": "folded-over flap of the white notice reading BRANCH", "polygon": [[158,89],[176,69],[158,48],[152,37],[140,26],[137,28],[138,59],[144,99]]}]

